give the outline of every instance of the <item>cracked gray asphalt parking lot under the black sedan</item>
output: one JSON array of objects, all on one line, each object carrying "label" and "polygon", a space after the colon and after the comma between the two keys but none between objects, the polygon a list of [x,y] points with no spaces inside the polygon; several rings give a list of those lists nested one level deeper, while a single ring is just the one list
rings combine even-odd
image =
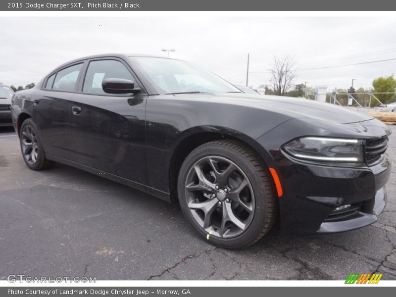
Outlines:
[{"label": "cracked gray asphalt parking lot under the black sedan", "polygon": [[0,280],[90,276],[97,280],[396,280],[396,125],[388,204],[374,225],[310,237],[273,233],[245,250],[206,243],[177,205],[56,164],[35,172],[13,129],[0,127]]}]

